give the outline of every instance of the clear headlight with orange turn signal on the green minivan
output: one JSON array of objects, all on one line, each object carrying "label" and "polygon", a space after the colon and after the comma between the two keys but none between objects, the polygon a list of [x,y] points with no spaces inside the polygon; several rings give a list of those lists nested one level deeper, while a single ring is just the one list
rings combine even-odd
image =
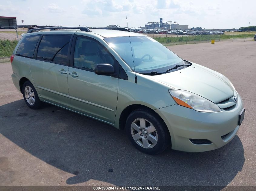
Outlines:
[{"label": "clear headlight with orange turn signal on the green minivan", "polygon": [[178,105],[201,112],[217,112],[221,109],[210,100],[185,90],[169,90]]}]

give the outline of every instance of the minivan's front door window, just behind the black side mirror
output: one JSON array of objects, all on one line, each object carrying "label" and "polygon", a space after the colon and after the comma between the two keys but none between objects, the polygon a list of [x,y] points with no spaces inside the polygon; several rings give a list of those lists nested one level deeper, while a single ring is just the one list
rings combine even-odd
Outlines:
[{"label": "minivan's front door window, just behind the black side mirror", "polygon": [[93,39],[77,37],[75,42],[74,67],[94,70],[96,64],[114,65],[114,59],[105,47]]}]

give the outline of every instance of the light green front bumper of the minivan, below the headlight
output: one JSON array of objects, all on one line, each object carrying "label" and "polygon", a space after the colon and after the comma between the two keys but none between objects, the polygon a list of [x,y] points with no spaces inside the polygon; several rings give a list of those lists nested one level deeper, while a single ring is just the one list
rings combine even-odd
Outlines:
[{"label": "light green front bumper of the minivan, below the headlight", "polygon": [[[242,109],[243,101],[238,95],[238,103],[231,110],[204,113],[175,104],[155,111],[169,129],[172,149],[202,152],[220,148],[234,138],[239,129],[238,115]],[[223,135],[226,136],[221,138]],[[212,143],[196,145],[189,139],[208,139]]]}]

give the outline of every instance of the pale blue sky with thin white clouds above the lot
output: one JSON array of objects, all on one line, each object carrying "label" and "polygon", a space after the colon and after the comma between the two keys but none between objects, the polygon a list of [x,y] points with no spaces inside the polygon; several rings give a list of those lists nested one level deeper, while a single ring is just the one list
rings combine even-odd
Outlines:
[{"label": "pale blue sky with thin white clouds above the lot", "polygon": [[0,0],[0,16],[17,17],[18,24],[106,27],[145,26],[176,21],[205,29],[256,26],[255,0]]}]

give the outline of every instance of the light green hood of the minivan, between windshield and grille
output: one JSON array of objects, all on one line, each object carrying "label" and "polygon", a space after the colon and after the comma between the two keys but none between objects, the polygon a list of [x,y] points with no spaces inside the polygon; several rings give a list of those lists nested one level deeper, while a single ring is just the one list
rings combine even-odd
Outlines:
[{"label": "light green hood of the minivan, between windshield and grille", "polygon": [[232,86],[218,72],[192,63],[191,66],[162,75],[151,76],[171,88],[190,91],[214,103],[234,95]]}]

